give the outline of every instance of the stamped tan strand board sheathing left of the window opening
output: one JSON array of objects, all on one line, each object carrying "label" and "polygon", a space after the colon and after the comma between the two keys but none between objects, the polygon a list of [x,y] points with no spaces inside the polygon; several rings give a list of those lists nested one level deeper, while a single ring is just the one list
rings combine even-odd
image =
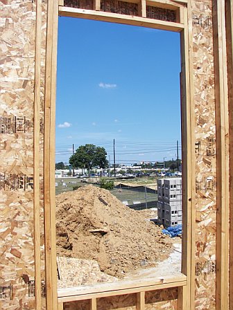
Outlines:
[{"label": "stamped tan strand board sheathing left of the window opening", "polygon": [[[0,286],[4,291],[0,300],[1,309],[35,309],[33,291],[35,9],[36,3],[31,0],[0,1]],[[44,24],[44,35],[45,30]],[[42,35],[44,40],[42,64],[45,55],[44,35]],[[44,76],[41,80],[44,83]],[[44,100],[43,94],[42,84],[41,102]],[[44,104],[41,109],[43,107]],[[41,144],[42,141],[43,139]],[[42,165],[42,157],[40,162]],[[41,218],[42,250],[43,230],[43,218]],[[42,268],[43,266],[42,262]],[[28,287],[31,287],[30,292]]]}]

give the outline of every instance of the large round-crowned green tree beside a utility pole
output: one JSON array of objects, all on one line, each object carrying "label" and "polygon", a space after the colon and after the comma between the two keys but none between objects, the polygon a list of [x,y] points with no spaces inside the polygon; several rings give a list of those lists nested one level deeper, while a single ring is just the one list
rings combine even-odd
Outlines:
[{"label": "large round-crowned green tree beside a utility pole", "polygon": [[93,144],[80,145],[76,149],[76,153],[69,158],[69,163],[73,167],[86,168],[90,172],[92,167],[107,167],[106,155],[104,147],[96,147]]}]

